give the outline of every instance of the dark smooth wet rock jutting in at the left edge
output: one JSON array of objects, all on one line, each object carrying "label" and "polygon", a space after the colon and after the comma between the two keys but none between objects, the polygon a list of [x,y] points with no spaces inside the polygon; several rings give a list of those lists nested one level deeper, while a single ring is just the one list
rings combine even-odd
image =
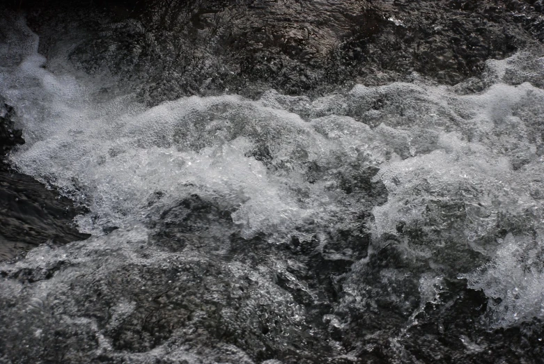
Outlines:
[{"label": "dark smooth wet rock jutting in at the left edge", "polygon": [[0,116],[0,260],[21,255],[40,244],[66,244],[86,239],[72,220],[84,209],[45,188],[29,175],[17,173],[4,159],[15,145],[24,143],[15,128],[15,112],[3,104]]}]

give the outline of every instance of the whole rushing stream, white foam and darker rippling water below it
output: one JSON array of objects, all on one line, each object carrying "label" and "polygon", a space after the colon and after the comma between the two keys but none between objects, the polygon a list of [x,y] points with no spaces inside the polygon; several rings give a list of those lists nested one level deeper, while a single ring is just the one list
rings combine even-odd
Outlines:
[{"label": "whole rushing stream, white foam and darker rippling water below it", "polygon": [[[485,294],[483,330],[544,319],[544,58],[457,86],[149,108],[62,50],[44,68],[9,25],[0,94],[26,139],[10,161],[86,205],[93,235],[0,265],[14,362],[351,363],[386,344],[428,362],[410,330],[453,281]],[[458,358],[491,352],[467,335]]]}]

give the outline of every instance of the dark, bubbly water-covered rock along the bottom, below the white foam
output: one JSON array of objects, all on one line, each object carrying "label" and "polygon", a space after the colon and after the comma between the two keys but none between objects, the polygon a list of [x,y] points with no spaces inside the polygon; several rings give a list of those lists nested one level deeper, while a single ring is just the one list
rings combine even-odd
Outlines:
[{"label": "dark, bubbly water-covered rock along the bottom, below the white foam", "polygon": [[[0,308],[14,324],[0,335],[0,360],[541,360],[542,322],[490,331],[483,319],[488,299],[467,289],[465,280],[436,280],[437,296],[418,308],[422,292],[412,276],[420,272],[407,262],[416,258],[407,258],[392,243],[369,253],[368,244],[349,244],[338,231],[332,232],[338,239],[330,246],[316,240],[292,239],[276,246],[261,237],[244,239],[228,211],[199,196],[180,201],[149,223],[150,236],[138,229],[113,231],[107,240],[91,238],[70,250],[42,246],[26,260],[3,266],[3,285],[14,294],[4,295]],[[221,236],[214,235],[217,225]],[[360,238],[369,238],[364,225],[358,230]],[[353,264],[353,255],[345,255],[348,250],[366,257],[364,271],[360,262]],[[45,255],[48,260],[40,261]],[[88,264],[93,269],[87,270]],[[384,280],[388,270],[391,276]],[[55,290],[54,296],[49,290]],[[403,296],[391,296],[391,290]],[[363,304],[355,292],[366,292]],[[21,301],[25,309],[17,310]]]}]

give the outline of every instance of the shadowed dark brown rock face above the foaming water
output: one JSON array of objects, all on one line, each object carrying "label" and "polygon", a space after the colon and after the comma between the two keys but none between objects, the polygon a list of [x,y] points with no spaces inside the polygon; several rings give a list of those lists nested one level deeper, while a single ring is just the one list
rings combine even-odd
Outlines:
[{"label": "shadowed dark brown rock face above the foaming water", "polygon": [[[23,2],[42,54],[79,36],[69,55],[105,69],[149,104],[182,95],[274,88],[320,95],[419,72],[445,84],[479,74],[544,40],[541,1],[98,1]],[[59,34],[61,35],[59,37]]]}]

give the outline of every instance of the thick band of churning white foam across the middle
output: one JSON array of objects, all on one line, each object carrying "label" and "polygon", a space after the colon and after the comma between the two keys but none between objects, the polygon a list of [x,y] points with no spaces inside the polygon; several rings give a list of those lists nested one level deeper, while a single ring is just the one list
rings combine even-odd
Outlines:
[{"label": "thick band of churning white foam across the middle", "polygon": [[[456,239],[436,246],[467,244],[493,259],[465,277],[502,298],[490,308],[495,322],[544,317],[541,271],[527,276],[515,263],[541,240],[496,239],[503,230],[543,228],[544,90],[529,83],[542,58],[491,61],[494,84],[479,94],[414,81],[317,100],[269,91],[257,101],[195,96],[147,109],[129,92],[109,100],[100,79],[43,68],[38,38],[22,21],[14,28],[28,36],[1,49],[0,93],[27,143],[10,159],[88,205],[81,230],[130,230],[196,193],[234,211],[244,237],[281,242],[309,220],[325,229],[353,219],[359,199],[340,188],[339,176],[378,166],[375,182],[389,198],[373,209],[376,241],[401,224],[451,230]],[[309,166],[320,171],[312,179]],[[463,219],[444,207],[456,204]]]}]

